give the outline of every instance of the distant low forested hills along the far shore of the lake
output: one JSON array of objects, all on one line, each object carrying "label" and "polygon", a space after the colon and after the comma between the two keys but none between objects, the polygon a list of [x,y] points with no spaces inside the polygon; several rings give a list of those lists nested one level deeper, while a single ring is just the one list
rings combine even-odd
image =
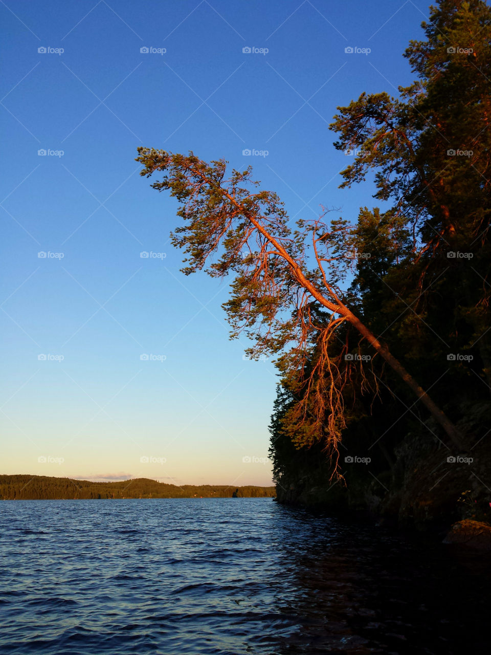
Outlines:
[{"label": "distant low forested hills along the far shore of the lake", "polygon": [[118,482],[90,482],[69,477],[0,476],[0,500],[64,500],[104,498],[263,498],[276,496],[274,487],[168,485],[138,477]]}]

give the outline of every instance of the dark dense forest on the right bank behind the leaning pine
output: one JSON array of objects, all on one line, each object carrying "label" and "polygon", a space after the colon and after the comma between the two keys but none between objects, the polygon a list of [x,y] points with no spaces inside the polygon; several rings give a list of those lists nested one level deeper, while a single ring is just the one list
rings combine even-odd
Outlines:
[{"label": "dark dense forest on the right bank behind the leaning pine", "polygon": [[[270,425],[279,500],[418,527],[491,520],[491,9],[441,0],[422,27],[413,84],[338,107],[335,147],[354,152],[341,186],[373,172],[384,210],[333,231],[355,253],[346,302],[447,424],[344,322],[283,376]],[[335,452],[288,424],[325,350],[342,380]]]}]

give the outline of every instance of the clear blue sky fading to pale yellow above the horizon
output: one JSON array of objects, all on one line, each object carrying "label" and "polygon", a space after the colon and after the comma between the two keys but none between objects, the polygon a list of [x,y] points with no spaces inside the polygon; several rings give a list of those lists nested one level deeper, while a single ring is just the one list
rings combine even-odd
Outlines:
[{"label": "clear blue sky fading to pale yellow above the horizon", "polygon": [[179,272],[177,203],[138,175],[136,148],[252,164],[292,219],[320,204],[355,219],[373,189],[337,188],[347,159],[329,122],[364,90],[412,81],[402,53],[427,13],[1,1],[1,473],[271,483],[274,366],[229,341],[227,282]]}]

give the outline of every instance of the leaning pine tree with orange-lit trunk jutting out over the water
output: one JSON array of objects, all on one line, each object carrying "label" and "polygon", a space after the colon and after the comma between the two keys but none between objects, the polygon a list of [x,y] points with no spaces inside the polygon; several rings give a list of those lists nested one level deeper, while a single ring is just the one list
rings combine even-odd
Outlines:
[{"label": "leaning pine tree with orange-lit trunk jutting out over the water", "polygon": [[[192,153],[185,156],[143,147],[137,161],[144,166],[143,176],[162,172],[164,177],[153,188],[170,191],[181,202],[177,215],[184,225],[175,229],[172,240],[187,255],[182,271],[190,274],[208,263],[211,276],[235,274],[225,309],[232,335],[245,330],[255,341],[251,355],[277,355],[284,373],[305,370],[317,346],[316,364],[297,411],[300,426],[307,414],[314,414],[310,431],[337,451],[344,427],[346,371],[342,367],[350,363],[332,358],[323,345],[348,322],[416,394],[450,441],[462,447],[456,426],[348,306],[339,286],[352,261],[350,240],[342,236],[345,226],[336,229],[336,221],[328,225],[321,217],[299,221],[299,229],[292,232],[278,196],[271,191],[253,193],[258,183],[251,180],[250,167],[232,171],[227,179],[224,160],[208,164]],[[319,306],[327,310],[327,320],[318,320],[313,308]]]}]

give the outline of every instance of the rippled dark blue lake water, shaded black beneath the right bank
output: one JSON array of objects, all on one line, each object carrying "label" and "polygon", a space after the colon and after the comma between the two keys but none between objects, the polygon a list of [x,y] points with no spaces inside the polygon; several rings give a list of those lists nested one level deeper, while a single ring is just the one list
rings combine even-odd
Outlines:
[{"label": "rippled dark blue lake water, shaded black beneath the right bank", "polygon": [[0,502],[0,652],[490,652],[486,557],[271,498]]}]

